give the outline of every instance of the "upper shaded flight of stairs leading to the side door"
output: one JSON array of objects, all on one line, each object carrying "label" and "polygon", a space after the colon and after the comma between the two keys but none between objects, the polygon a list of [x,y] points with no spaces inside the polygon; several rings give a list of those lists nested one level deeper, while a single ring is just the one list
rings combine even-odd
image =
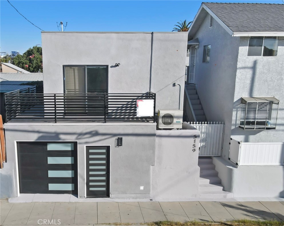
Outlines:
[{"label": "upper shaded flight of stairs leading to the side door", "polygon": [[186,90],[188,92],[188,96],[192,105],[192,109],[194,112],[194,115],[196,117],[196,121],[198,122],[205,122],[206,121],[206,116],[204,114],[202,105],[200,103],[198,94],[196,92],[195,85],[189,84],[186,85]]}]

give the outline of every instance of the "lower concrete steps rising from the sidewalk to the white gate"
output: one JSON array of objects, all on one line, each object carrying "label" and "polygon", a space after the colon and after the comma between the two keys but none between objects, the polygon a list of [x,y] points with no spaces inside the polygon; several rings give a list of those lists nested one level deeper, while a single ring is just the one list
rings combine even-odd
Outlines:
[{"label": "lower concrete steps rising from the sidewalk to the white gate", "polygon": [[200,198],[233,198],[233,193],[223,191],[224,187],[211,157],[199,157],[198,166],[200,167]]}]

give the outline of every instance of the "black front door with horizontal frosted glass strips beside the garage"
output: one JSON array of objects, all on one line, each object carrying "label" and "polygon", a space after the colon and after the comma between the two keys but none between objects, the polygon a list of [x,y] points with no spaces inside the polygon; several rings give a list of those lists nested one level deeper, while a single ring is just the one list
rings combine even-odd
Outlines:
[{"label": "black front door with horizontal frosted glass strips beside the garage", "polygon": [[86,146],[86,197],[110,197],[110,146]]}]

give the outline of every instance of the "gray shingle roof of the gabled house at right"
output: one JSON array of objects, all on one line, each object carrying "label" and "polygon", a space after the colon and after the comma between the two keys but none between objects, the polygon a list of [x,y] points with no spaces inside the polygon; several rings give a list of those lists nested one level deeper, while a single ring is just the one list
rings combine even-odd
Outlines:
[{"label": "gray shingle roof of the gabled house at right", "polygon": [[284,5],[204,3],[233,32],[283,32]]}]

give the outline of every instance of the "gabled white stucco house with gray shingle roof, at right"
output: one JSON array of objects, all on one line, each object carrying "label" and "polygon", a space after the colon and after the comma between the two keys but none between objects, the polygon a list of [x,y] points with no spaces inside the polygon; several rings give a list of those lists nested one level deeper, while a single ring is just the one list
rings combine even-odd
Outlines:
[{"label": "gabled white stucco house with gray shingle roof, at right", "polygon": [[185,101],[202,105],[191,104],[192,121],[225,123],[213,163],[234,197],[284,196],[283,11],[282,4],[202,3],[188,31]]}]

